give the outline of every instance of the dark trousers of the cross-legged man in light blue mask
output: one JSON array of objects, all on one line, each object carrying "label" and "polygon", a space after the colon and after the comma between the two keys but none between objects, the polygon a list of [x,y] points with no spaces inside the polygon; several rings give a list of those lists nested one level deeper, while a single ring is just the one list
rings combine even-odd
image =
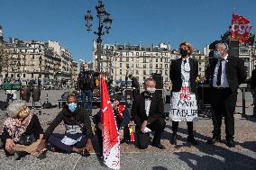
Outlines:
[{"label": "dark trousers of the cross-legged man in light blue mask", "polygon": [[[80,137],[82,137],[82,139],[80,141],[78,141],[78,143],[76,143],[75,145],[69,146],[69,145],[66,145],[61,142],[61,140],[65,136],[69,137],[70,139],[78,139]],[[83,134],[80,134],[80,133],[77,133],[77,134],[52,134],[52,135],[50,135],[49,142],[50,142],[50,145],[52,145],[53,147],[59,148],[60,150],[67,152],[68,154],[71,153],[73,147],[84,148],[87,146],[86,136]]]}]

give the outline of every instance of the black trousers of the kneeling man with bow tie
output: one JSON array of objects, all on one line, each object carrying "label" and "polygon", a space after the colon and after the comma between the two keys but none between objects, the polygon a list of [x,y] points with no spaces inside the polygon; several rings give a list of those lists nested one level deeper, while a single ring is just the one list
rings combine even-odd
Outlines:
[{"label": "black trousers of the kneeling man with bow tie", "polygon": [[139,148],[148,148],[151,143],[160,144],[161,135],[165,129],[166,122],[164,119],[160,118],[157,121],[151,122],[147,127],[152,131],[155,131],[154,138],[151,142],[150,133],[142,133],[141,127],[136,127],[138,146]]}]

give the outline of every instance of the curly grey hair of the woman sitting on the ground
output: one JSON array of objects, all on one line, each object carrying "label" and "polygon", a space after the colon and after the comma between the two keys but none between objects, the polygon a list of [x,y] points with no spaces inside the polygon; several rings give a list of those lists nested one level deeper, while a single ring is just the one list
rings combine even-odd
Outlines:
[{"label": "curly grey hair of the woman sitting on the ground", "polygon": [[13,103],[10,103],[10,105],[7,107],[6,114],[9,117],[15,117],[18,112],[22,111],[24,107],[27,106],[27,103],[25,101],[14,101]]}]

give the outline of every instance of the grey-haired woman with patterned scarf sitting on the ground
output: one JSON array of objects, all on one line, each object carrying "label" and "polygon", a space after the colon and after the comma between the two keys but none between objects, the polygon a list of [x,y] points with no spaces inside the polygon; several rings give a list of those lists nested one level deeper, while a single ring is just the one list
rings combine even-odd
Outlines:
[{"label": "grey-haired woman with patterned scarf sitting on the ground", "polygon": [[1,136],[5,154],[12,156],[16,153],[16,159],[35,154],[43,134],[37,115],[30,112],[24,101],[14,101],[7,107],[6,113],[8,118]]}]

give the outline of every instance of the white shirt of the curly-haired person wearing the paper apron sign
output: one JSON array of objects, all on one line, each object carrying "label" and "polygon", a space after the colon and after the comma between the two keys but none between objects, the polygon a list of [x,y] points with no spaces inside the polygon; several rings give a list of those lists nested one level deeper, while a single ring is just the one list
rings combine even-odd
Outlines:
[{"label": "white shirt of the curly-haired person wearing the paper apron sign", "polygon": [[182,85],[189,86],[189,77],[190,77],[189,58],[182,58],[182,63],[181,63]]}]

